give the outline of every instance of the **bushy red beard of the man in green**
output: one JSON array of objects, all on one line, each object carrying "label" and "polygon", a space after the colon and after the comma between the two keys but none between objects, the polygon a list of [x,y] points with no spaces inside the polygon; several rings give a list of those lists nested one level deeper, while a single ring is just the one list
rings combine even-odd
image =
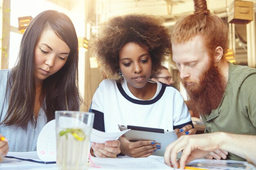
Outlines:
[{"label": "bushy red beard of the man in green", "polygon": [[188,108],[195,115],[209,115],[216,109],[222,100],[226,83],[224,76],[220,73],[218,66],[210,61],[206,71],[200,76],[200,82],[192,86],[186,84],[189,79],[182,79],[181,82],[188,95]]}]

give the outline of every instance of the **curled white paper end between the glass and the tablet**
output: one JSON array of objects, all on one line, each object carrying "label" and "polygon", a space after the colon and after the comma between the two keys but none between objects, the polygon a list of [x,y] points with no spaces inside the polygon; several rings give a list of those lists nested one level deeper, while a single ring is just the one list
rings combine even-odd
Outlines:
[{"label": "curled white paper end between the glass and the tablet", "polygon": [[120,131],[120,132],[114,132],[114,133],[106,133],[106,132],[101,132],[96,129],[92,129],[90,141],[95,142],[95,143],[104,144],[106,141],[112,141],[112,140],[118,139],[120,136],[124,135],[129,130],[130,129]]}]

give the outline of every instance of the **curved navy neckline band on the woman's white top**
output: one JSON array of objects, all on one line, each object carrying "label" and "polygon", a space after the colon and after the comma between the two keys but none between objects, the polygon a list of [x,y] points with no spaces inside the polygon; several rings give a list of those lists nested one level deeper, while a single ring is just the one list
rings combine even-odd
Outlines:
[{"label": "curved navy neckline band on the woman's white top", "polygon": [[157,97],[155,97],[154,99],[152,100],[137,100],[137,99],[133,99],[131,98],[130,96],[128,96],[121,83],[120,82],[117,82],[117,88],[119,90],[119,92],[121,93],[121,95],[124,96],[124,98],[126,98],[128,101],[132,102],[132,103],[135,103],[135,104],[141,104],[141,105],[149,105],[149,104],[154,104],[155,102],[157,102],[159,99],[161,99],[161,97],[164,95],[164,91],[165,91],[165,88],[166,86],[168,86],[167,84],[162,84],[162,88],[159,92],[159,94],[157,95]]}]

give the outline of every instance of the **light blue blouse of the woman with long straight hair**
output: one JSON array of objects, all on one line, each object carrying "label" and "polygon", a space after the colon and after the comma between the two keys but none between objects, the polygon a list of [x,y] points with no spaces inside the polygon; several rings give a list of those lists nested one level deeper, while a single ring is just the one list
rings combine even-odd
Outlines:
[{"label": "light blue blouse of the woman with long straight hair", "polygon": [[[7,79],[11,69],[0,70],[0,122],[5,118],[8,109],[8,97],[6,97]],[[38,135],[47,123],[47,117],[42,108],[40,108],[37,123],[29,122],[27,131],[14,126],[0,125],[0,134],[8,139],[9,152],[29,152],[36,151],[36,142]]]}]

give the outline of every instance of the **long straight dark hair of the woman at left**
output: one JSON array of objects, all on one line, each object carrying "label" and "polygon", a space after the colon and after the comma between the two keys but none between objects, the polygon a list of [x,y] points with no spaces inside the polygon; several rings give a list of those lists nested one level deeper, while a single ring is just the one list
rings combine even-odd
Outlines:
[{"label": "long straight dark hair of the woman at left", "polygon": [[82,102],[78,88],[78,39],[74,25],[64,13],[48,10],[38,14],[27,27],[20,44],[17,65],[12,68],[7,84],[9,106],[6,126],[27,129],[33,121],[36,83],[34,49],[45,29],[52,29],[70,48],[65,65],[43,81],[40,104],[47,121],[54,119],[55,110],[79,110]]}]

